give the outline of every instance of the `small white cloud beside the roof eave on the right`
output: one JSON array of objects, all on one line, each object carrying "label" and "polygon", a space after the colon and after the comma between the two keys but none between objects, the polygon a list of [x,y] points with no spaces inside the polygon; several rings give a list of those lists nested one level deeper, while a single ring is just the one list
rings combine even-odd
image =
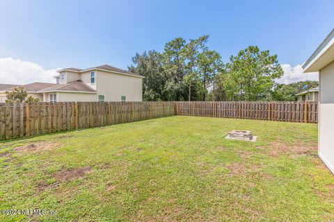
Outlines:
[{"label": "small white cloud beside the roof eave on the right", "polygon": [[283,64],[281,66],[283,68],[284,75],[276,81],[278,83],[289,84],[304,80],[319,80],[319,74],[317,72],[304,74],[301,65],[291,67],[289,64]]}]

